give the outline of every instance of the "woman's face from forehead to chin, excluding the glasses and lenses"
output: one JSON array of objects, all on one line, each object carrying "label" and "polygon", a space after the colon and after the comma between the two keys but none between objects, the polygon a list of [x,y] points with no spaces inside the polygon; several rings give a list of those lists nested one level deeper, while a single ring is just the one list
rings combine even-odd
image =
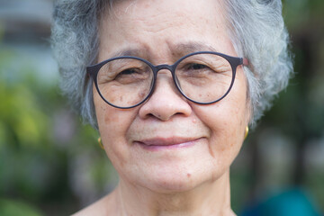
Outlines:
[{"label": "woman's face from forehead to chin, excluding the glasses and lenses", "polygon": [[[218,1],[121,1],[107,11],[98,61],[123,52],[154,65],[200,50],[237,56]],[[135,108],[113,108],[94,89],[103,145],[121,182],[156,192],[190,190],[226,174],[244,139],[247,104],[241,66],[229,94],[209,105],[187,101],[168,70],[159,71],[154,93]]]}]

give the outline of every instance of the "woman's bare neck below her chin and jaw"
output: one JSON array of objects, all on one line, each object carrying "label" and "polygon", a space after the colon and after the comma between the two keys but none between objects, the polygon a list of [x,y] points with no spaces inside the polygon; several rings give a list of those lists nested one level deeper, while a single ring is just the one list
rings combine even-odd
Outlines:
[{"label": "woman's bare neck below her chin and jaw", "polygon": [[178,193],[156,193],[121,180],[114,195],[117,215],[235,215],[230,209],[229,171]]}]

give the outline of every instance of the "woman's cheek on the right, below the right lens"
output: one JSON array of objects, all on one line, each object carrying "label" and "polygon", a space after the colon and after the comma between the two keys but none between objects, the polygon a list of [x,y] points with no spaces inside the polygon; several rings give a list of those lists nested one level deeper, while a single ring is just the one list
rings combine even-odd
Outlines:
[{"label": "woman's cheek on the right, below the right lens", "polygon": [[218,163],[230,164],[243,143],[249,116],[246,89],[245,82],[238,81],[219,103],[193,105],[197,117],[210,129],[209,148]]}]

